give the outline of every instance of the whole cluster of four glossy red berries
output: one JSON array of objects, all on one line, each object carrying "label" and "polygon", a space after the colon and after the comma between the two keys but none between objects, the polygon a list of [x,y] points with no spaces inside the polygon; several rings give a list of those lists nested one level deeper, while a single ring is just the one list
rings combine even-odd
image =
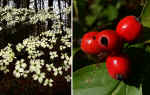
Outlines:
[{"label": "whole cluster of four glossy red berries", "polygon": [[131,61],[118,53],[124,42],[132,42],[138,38],[142,25],[135,16],[126,16],[118,23],[116,31],[103,30],[86,33],[81,41],[81,49],[88,54],[109,52],[106,67],[110,76],[117,80],[127,79]]}]

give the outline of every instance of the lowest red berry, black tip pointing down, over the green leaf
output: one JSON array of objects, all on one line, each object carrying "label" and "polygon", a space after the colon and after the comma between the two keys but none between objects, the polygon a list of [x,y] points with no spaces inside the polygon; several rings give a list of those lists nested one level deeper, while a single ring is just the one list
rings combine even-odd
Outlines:
[{"label": "lowest red berry, black tip pointing down, over the green leaf", "polygon": [[130,60],[126,56],[108,56],[106,59],[109,75],[117,80],[128,78],[130,66]]}]

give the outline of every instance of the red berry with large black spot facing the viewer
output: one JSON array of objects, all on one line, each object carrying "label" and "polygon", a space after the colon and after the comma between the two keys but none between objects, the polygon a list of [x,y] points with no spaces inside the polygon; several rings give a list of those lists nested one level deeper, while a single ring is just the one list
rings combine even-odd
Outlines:
[{"label": "red berry with large black spot facing the viewer", "polygon": [[122,41],[113,30],[103,30],[96,35],[96,41],[99,48],[103,51],[119,50],[122,46]]}]

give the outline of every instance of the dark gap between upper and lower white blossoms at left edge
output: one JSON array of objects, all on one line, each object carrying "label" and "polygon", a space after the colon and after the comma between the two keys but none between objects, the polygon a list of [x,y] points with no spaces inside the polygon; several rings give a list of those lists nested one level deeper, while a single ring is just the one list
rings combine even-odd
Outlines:
[{"label": "dark gap between upper and lower white blossoms at left edge", "polygon": [[4,48],[8,43],[16,45],[29,35],[39,34],[42,28],[42,25],[38,28],[37,24],[16,24],[14,27],[3,29],[0,33],[0,48]]}]

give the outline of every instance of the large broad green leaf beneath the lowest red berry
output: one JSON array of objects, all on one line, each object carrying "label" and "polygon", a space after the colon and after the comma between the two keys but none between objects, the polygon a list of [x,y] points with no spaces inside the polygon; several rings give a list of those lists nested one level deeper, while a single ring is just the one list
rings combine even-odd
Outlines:
[{"label": "large broad green leaf beneath the lowest red berry", "polygon": [[134,86],[112,79],[105,63],[89,65],[73,73],[74,95],[141,95]]}]

